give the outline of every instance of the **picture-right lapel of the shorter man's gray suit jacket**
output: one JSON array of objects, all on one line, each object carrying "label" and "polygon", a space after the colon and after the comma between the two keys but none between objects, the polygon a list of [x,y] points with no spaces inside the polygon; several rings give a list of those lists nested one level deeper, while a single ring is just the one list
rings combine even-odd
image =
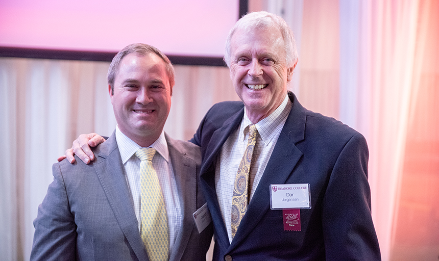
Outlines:
[{"label": "picture-right lapel of the shorter man's gray suit jacket", "polygon": [[174,169],[178,194],[180,195],[180,204],[182,205],[182,227],[185,228],[180,228],[169,260],[181,260],[193,229],[192,213],[197,210],[197,166],[193,160],[186,156],[186,151],[181,146],[178,146],[166,134],[165,137]]}]

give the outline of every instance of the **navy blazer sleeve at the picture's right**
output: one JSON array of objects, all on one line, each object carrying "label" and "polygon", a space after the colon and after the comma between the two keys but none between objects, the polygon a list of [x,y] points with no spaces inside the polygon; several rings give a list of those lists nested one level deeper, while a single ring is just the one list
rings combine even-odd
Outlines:
[{"label": "navy blazer sleeve at the picture's right", "polygon": [[367,143],[357,134],[334,165],[322,210],[327,260],[381,260],[371,216],[368,159]]}]

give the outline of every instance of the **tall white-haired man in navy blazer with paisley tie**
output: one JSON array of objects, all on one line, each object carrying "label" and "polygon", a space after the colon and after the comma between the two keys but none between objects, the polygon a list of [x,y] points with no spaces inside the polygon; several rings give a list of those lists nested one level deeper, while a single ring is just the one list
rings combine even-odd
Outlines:
[{"label": "tall white-haired man in navy blazer with paisley tie", "polygon": [[241,101],[214,105],[191,139],[202,149],[214,260],[381,259],[367,142],[287,90],[297,59],[279,16],[250,13],[230,31],[225,61]]}]

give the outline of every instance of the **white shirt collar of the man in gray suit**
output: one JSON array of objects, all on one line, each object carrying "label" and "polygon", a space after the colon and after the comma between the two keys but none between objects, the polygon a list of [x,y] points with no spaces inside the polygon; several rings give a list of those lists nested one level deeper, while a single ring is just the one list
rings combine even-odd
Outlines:
[{"label": "white shirt collar of the man in gray suit", "polygon": [[[131,159],[131,157],[136,153],[136,151],[139,148],[141,148],[140,145],[138,145],[133,140],[128,138],[125,134],[123,134],[117,125],[116,125],[116,143],[123,164],[125,164],[129,159]],[[157,150],[157,152],[163,157],[163,159],[165,159],[166,162],[169,162],[169,150],[167,147],[167,142],[164,137],[163,131],[160,134],[159,138],[153,144],[151,144],[149,148],[154,148],[155,150]]]}]

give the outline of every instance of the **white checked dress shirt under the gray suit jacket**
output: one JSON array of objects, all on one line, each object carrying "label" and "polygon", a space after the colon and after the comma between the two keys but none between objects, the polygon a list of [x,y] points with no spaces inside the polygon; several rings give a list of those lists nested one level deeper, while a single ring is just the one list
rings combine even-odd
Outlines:
[{"label": "white checked dress shirt under the gray suit jacket", "polygon": [[[117,126],[116,143],[122,158],[122,163],[124,164],[124,174],[128,182],[128,188],[132,195],[134,212],[136,213],[136,218],[139,222],[140,231],[140,160],[137,158],[135,153],[141,147],[121,133]],[[172,162],[169,158],[169,151],[166,139],[164,137],[164,132],[161,133],[160,137],[150,147],[157,150],[152,162],[159,178],[160,188],[163,193],[163,199],[166,207],[166,216],[169,229],[170,256],[181,226],[182,216],[179,195],[177,192],[177,184],[175,181]]]}]

